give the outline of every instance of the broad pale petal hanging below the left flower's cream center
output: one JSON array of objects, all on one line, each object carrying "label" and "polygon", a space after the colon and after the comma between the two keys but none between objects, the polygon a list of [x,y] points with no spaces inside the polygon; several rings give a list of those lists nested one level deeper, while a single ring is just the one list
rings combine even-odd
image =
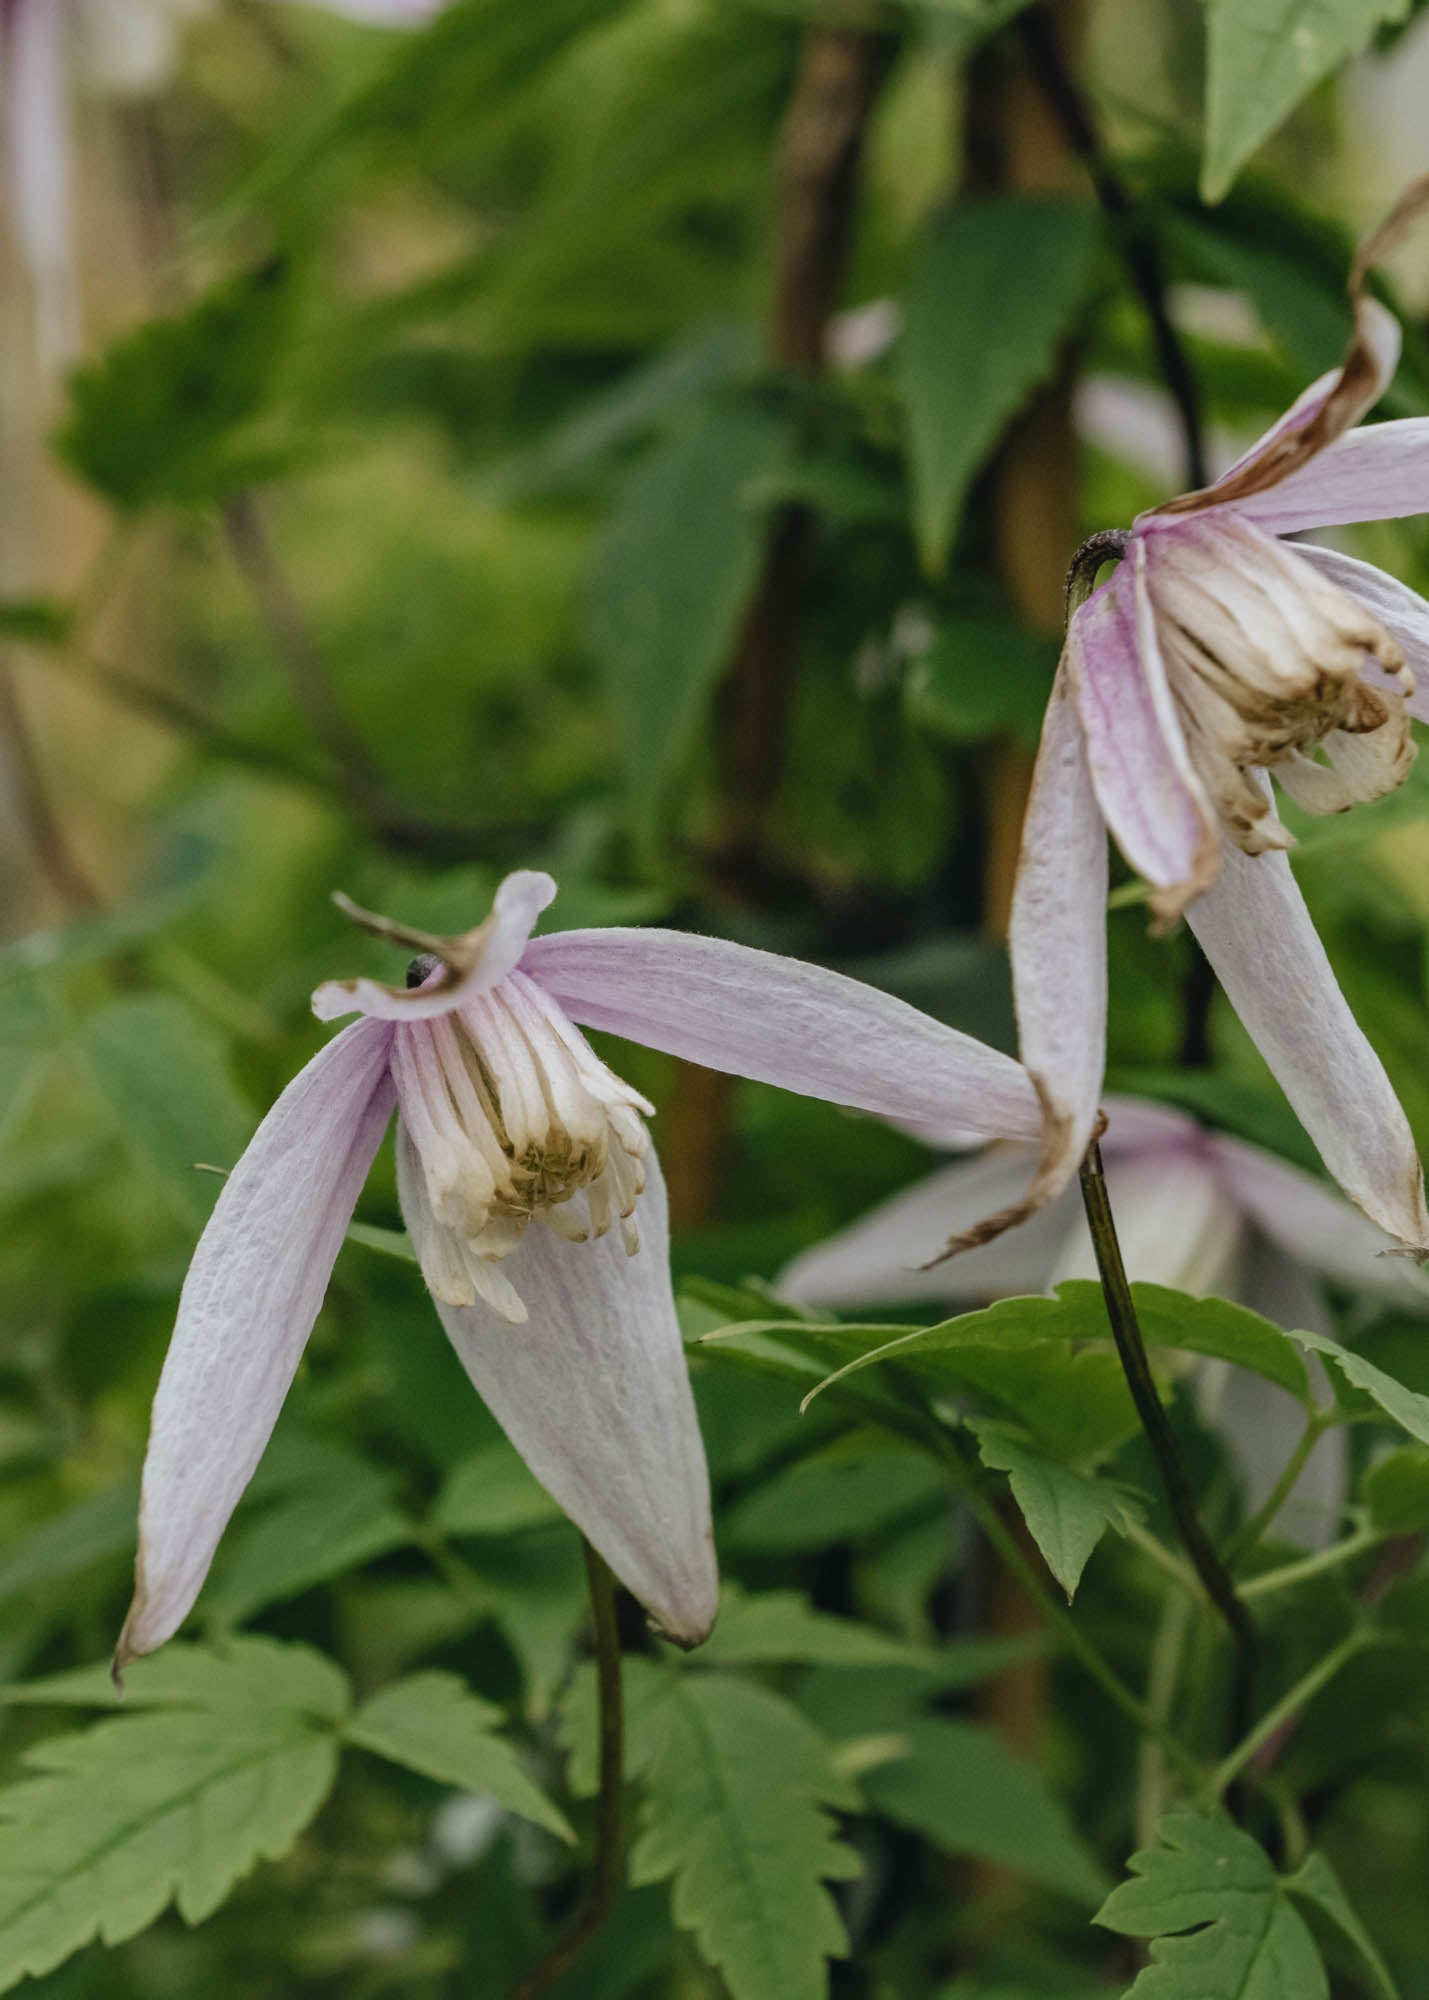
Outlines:
[{"label": "broad pale petal hanging below the left flower's cream center", "polygon": [[[696,1646],[719,1606],[708,1472],[652,1154],[646,1170],[634,1256],[620,1230],[572,1244],[538,1222],[502,1260],[526,1306],[524,1326],[482,1304],[436,1310],[462,1368],[552,1500],[658,1626]],[[408,1182],[408,1200],[416,1188],[420,1176]]]}]

